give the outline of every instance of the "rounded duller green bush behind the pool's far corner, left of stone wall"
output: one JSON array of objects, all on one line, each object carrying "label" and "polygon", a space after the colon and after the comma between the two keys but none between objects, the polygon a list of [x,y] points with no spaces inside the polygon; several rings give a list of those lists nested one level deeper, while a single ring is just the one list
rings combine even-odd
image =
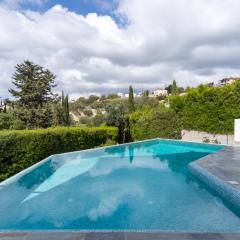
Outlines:
[{"label": "rounded duller green bush behind the pool's far corner, left of stone wall", "polygon": [[133,140],[181,138],[178,115],[163,106],[138,110],[131,114],[129,121]]}]

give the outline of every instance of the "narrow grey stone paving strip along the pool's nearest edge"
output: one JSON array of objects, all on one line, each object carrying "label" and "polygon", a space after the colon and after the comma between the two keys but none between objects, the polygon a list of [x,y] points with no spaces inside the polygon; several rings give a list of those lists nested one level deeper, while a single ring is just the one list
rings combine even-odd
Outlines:
[{"label": "narrow grey stone paving strip along the pool's nearest edge", "polygon": [[18,232],[0,233],[1,240],[240,240],[234,233],[146,232]]}]

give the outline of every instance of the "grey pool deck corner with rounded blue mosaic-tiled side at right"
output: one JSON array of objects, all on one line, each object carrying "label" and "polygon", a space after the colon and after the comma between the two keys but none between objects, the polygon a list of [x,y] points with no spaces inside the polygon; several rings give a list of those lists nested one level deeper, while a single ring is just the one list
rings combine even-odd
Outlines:
[{"label": "grey pool deck corner with rounded blue mosaic-tiled side at right", "polygon": [[240,211],[240,148],[225,147],[188,166],[189,171]]}]

